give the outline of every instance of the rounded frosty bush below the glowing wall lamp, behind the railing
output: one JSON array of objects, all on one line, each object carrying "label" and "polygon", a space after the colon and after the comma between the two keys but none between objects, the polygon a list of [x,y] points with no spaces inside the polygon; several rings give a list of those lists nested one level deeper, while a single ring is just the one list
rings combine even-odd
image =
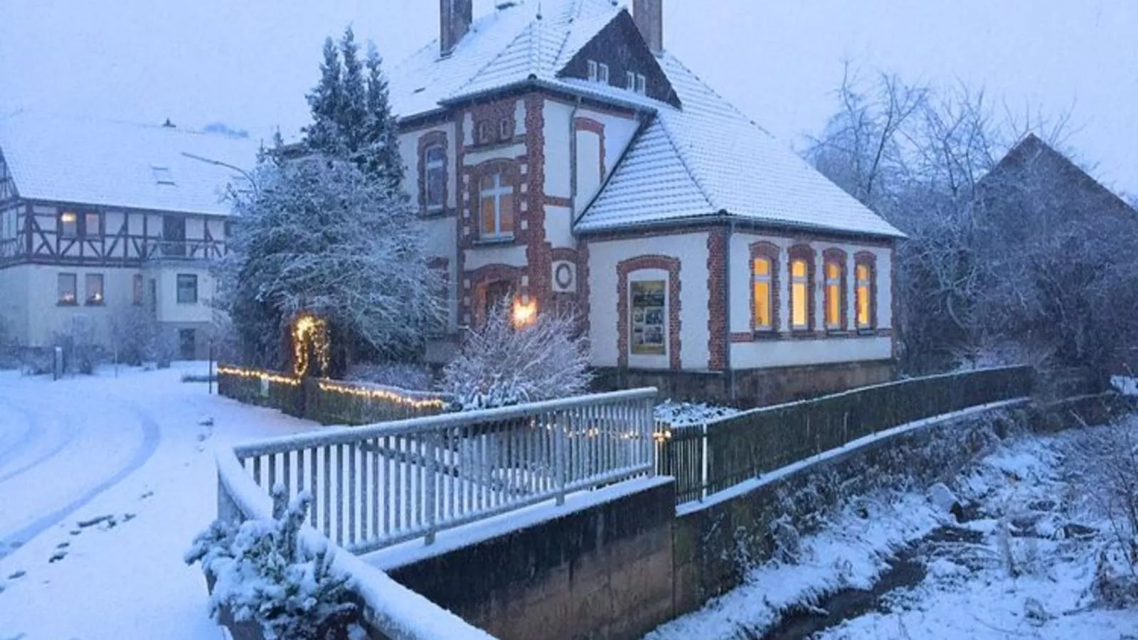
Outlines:
[{"label": "rounded frosty bush below the glowing wall lamp, behind the railing", "polygon": [[574,326],[571,317],[546,312],[514,327],[510,307],[501,304],[443,370],[443,389],[464,410],[579,395],[591,374]]}]

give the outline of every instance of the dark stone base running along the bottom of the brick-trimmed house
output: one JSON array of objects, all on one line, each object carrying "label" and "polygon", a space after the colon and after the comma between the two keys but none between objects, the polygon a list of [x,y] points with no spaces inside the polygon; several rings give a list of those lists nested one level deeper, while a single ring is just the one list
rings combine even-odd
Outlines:
[{"label": "dark stone base running along the bottom of the brick-trimmed house", "polygon": [[[594,388],[617,391],[654,386],[660,397],[715,402],[743,409],[818,397],[855,387],[888,383],[894,378],[892,360],[776,367],[724,371],[667,371],[596,369]],[[731,393],[734,385],[735,392]]]}]

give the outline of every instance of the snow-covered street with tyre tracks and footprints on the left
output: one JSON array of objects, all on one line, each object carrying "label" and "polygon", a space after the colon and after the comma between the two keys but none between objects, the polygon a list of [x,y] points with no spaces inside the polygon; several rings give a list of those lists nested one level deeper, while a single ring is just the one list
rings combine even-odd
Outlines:
[{"label": "snow-covered street with tyre tracks and footprints on the left", "polygon": [[185,372],[0,371],[0,640],[223,638],[182,563],[216,515],[212,448],[319,427]]}]

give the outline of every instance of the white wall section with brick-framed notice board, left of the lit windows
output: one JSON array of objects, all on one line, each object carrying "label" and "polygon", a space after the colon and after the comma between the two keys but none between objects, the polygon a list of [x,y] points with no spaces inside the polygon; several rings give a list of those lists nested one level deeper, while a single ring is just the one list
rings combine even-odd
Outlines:
[{"label": "white wall section with brick-framed notice board, left of the lit windows", "polygon": [[[589,359],[594,367],[617,366],[619,319],[617,314],[617,264],[642,255],[679,260],[681,366],[685,370],[708,367],[707,233],[657,236],[629,240],[589,241]],[[667,272],[633,272],[635,279],[666,279]],[[627,292],[622,292],[628,295]],[[670,295],[670,292],[669,292]],[[671,301],[668,300],[670,312]],[[669,345],[670,348],[670,345]],[[634,368],[667,369],[669,354],[629,354]]]}]

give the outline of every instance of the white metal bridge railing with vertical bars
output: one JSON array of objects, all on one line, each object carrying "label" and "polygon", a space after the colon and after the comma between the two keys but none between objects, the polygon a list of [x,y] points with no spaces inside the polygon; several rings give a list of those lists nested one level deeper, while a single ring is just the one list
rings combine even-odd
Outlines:
[{"label": "white metal bridge railing with vertical bars", "polygon": [[363,553],[653,473],[654,388],[333,428],[233,448],[266,492]]}]

